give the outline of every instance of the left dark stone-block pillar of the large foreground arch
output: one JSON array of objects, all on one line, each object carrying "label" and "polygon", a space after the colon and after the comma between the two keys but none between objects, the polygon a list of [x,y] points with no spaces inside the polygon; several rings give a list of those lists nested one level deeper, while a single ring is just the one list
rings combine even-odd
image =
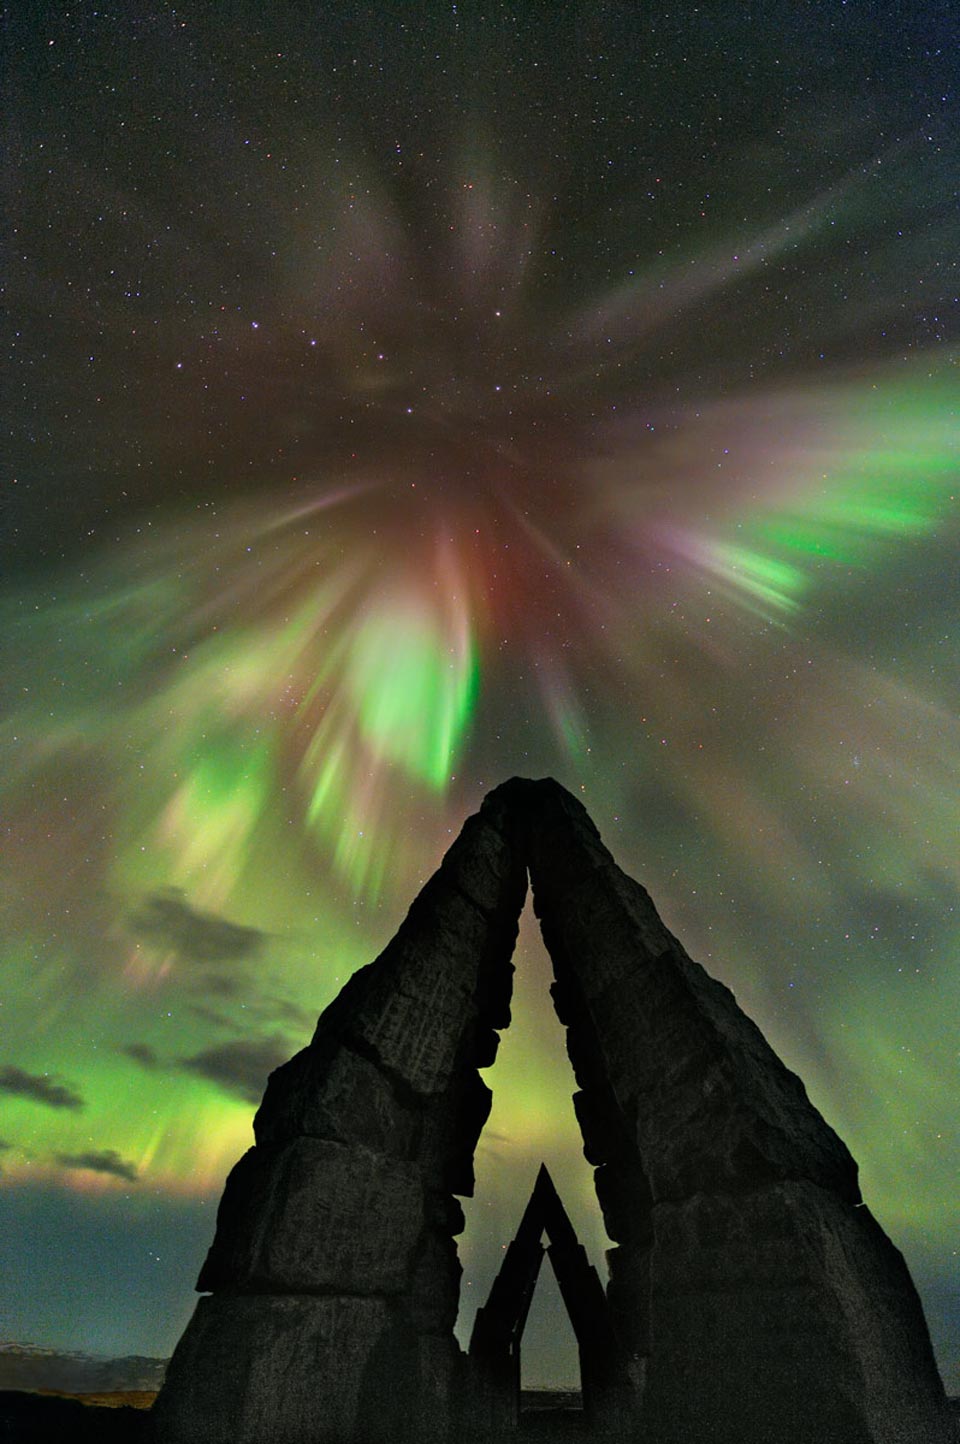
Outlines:
[{"label": "left dark stone-block pillar of the large foreground arch", "polygon": [[510,1022],[527,877],[471,817],[384,953],[271,1074],[153,1409],[160,1444],[397,1444],[455,1431],[463,1227]]}]

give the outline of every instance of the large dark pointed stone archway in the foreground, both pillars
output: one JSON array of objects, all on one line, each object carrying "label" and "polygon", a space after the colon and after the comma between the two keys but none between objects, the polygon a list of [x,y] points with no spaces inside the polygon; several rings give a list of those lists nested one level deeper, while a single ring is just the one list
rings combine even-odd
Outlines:
[{"label": "large dark pointed stone archway in the foreground, both pillars", "polygon": [[[469,1438],[463,1226],[527,869],[645,1444],[947,1444],[925,1321],[856,1164],[551,780],[469,817],[381,956],[271,1074],[227,1180],[160,1444]],[[622,1382],[622,1380],[621,1380]],[[479,1393],[478,1393],[479,1391]]]}]

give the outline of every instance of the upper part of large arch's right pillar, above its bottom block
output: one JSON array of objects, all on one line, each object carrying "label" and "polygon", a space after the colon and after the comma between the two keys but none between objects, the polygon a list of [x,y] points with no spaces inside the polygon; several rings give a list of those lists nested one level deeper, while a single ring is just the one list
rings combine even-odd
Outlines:
[{"label": "upper part of large arch's right pillar, above its bottom block", "polygon": [[534,799],[534,907],[573,1064],[585,1086],[609,1083],[654,1196],[806,1177],[858,1203],[850,1154],[730,991],[687,957],[569,793]]}]

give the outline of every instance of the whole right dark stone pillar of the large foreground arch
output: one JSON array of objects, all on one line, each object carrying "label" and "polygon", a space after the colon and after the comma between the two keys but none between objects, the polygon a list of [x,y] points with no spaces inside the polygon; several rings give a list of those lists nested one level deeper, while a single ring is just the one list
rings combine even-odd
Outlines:
[{"label": "whole right dark stone pillar of the large foreground arch", "polygon": [[637,1350],[648,1444],[947,1444],[909,1274],[856,1164],[733,995],[693,963],[583,807],[499,788],[534,907]]}]

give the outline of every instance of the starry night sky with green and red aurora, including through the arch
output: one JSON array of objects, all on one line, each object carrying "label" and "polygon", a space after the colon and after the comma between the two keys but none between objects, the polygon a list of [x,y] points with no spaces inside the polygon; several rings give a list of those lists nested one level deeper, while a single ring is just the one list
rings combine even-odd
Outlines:
[{"label": "starry night sky with green and red aurora, including through the arch", "polygon": [[[550,774],[960,1393],[953,4],[30,3],[4,65],[0,1334],[172,1350],[267,1073]],[[541,1160],[602,1268],[517,963],[466,1331]]]}]

